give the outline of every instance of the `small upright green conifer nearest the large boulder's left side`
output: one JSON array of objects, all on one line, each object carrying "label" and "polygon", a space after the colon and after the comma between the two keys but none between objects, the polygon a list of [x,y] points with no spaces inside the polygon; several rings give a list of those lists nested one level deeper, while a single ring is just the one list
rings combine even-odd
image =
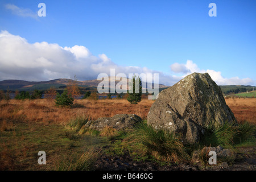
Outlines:
[{"label": "small upright green conifer nearest the large boulder's left side", "polygon": [[[142,97],[142,82],[141,78],[137,76],[133,76],[130,85],[133,85],[133,88],[130,88],[128,90],[128,97],[127,101],[129,101],[131,104],[138,104],[141,102],[141,97]],[[139,93],[135,93],[135,90],[139,89]]]}]

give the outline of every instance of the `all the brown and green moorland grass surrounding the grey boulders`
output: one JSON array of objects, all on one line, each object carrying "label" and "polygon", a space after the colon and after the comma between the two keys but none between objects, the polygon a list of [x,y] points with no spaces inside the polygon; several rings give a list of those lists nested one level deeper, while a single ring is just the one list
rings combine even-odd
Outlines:
[{"label": "all the brown and green moorland grass surrounding the grey boulders", "polygon": [[[240,121],[237,126],[226,123],[220,127],[209,127],[205,137],[200,140],[200,149],[204,146],[218,145],[223,145],[225,148],[246,146],[247,143],[250,143],[249,146],[255,146],[255,125],[253,125],[255,117],[253,114],[245,114],[249,106],[253,111],[254,101],[256,100],[229,99],[230,103],[227,104],[233,106],[232,111],[239,106],[239,112],[236,111],[235,115],[243,113],[251,116],[251,120]],[[173,162],[187,160],[192,152],[198,149],[197,146],[184,145],[175,134],[150,128],[146,125],[146,121],[141,127],[117,131],[112,137],[100,137],[101,133],[97,130],[81,132],[88,120],[87,116],[90,119],[97,119],[104,116],[112,117],[114,114],[135,113],[146,118],[152,101],[142,100],[133,107],[125,100],[79,100],[76,102],[83,107],[59,108],[44,99],[11,100],[10,104],[0,105],[0,169],[56,169],[57,164],[55,165],[54,161],[59,156],[74,154],[67,160],[76,163],[83,154],[82,151],[85,151],[85,146],[101,148],[108,145],[102,148],[101,152],[113,155],[129,154],[134,160]],[[119,106],[118,109],[116,105]],[[46,151],[46,166],[37,163],[37,153],[40,150]],[[74,167],[71,166],[69,169]]]}]

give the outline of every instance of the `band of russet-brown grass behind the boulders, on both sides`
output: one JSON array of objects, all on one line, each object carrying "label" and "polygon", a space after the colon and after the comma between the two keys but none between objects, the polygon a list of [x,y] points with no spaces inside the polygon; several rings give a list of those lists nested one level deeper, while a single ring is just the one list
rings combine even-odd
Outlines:
[{"label": "band of russet-brown grass behind the boulders, on both sides", "polygon": [[[67,124],[79,114],[88,115],[89,119],[113,117],[115,114],[137,114],[147,119],[148,111],[154,103],[143,99],[137,105],[130,105],[127,100],[75,100],[71,108],[59,108],[54,100],[11,100],[10,104],[0,102],[1,130],[11,127],[7,121],[43,122]],[[226,104],[233,111],[238,122],[248,121],[256,124],[256,98],[229,98]],[[9,125],[9,126],[7,126]]]}]

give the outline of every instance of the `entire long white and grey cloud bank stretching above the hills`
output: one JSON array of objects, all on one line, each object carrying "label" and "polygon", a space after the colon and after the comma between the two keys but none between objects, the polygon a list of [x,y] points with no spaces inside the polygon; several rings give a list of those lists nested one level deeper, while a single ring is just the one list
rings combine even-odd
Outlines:
[{"label": "entire long white and grey cloud bank stretching above the hills", "polygon": [[193,72],[208,72],[219,85],[250,85],[253,82],[250,78],[224,78],[221,72],[210,69],[201,70],[191,60],[186,64],[174,63],[170,67],[175,73],[183,73],[183,76],[163,73],[147,67],[123,67],[115,64],[104,53],[98,56],[93,55],[84,46],[61,47],[59,44],[47,42],[28,43],[18,35],[7,31],[0,32],[0,80],[46,81],[56,78],[73,78],[75,75],[79,80],[92,80],[97,79],[100,73],[110,76],[110,69],[115,69],[115,75],[117,73],[125,73],[127,76],[129,73],[159,73],[159,83],[170,86]]}]

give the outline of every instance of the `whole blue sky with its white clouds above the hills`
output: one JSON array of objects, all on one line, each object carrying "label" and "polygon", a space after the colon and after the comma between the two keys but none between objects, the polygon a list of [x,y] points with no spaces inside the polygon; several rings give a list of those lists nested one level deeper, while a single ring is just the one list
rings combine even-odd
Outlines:
[{"label": "whole blue sky with its white clouds above the hills", "polygon": [[90,80],[115,69],[158,73],[170,86],[193,72],[256,86],[255,9],[254,0],[0,0],[0,80]]}]

